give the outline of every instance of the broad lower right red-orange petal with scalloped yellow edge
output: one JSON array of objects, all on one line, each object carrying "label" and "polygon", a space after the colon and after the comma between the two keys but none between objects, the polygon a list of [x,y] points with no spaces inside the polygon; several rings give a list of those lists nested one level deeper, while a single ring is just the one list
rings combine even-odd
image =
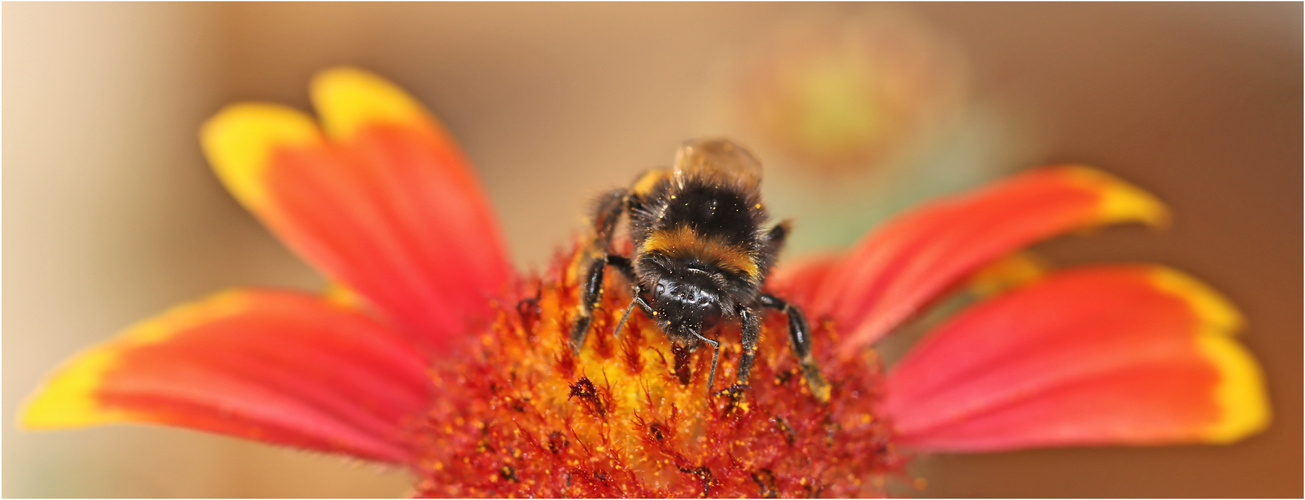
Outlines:
[{"label": "broad lower right red-orange petal with scalloped yellow edge", "polygon": [[1240,325],[1169,269],[1067,270],[933,332],[890,371],[883,411],[921,450],[1228,443],[1268,423]]}]

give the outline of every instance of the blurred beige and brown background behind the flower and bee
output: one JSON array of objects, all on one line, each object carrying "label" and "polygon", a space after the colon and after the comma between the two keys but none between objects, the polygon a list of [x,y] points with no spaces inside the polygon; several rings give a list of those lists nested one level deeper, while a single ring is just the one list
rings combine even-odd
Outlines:
[{"label": "blurred beige and brown background behind the flower and bee", "polygon": [[[1249,316],[1274,426],[1231,446],[933,457],[915,466],[923,495],[1302,493],[1300,4],[8,3],[0,14],[4,496],[407,491],[402,473],[189,431],[12,424],[43,373],[132,321],[222,287],[321,286],[221,189],[196,129],[238,99],[307,107],[308,77],[341,63],[395,80],[445,119],[521,265],[566,240],[594,193],[706,133],[762,154],[773,210],[799,217],[795,252],[1002,171],[1107,167],[1168,201],[1173,227],[1041,251],[1164,261],[1225,291]],[[853,35],[784,42],[804,30]],[[830,65],[800,63],[847,63],[847,39],[902,47],[851,51],[898,78],[870,87],[904,102],[880,103],[886,121],[843,123],[887,153],[850,162],[767,140],[792,131],[757,127],[775,94],[756,84],[787,78],[766,68],[810,77]],[[817,97],[864,84],[838,64],[812,77]],[[810,106],[835,125],[855,107]]]}]

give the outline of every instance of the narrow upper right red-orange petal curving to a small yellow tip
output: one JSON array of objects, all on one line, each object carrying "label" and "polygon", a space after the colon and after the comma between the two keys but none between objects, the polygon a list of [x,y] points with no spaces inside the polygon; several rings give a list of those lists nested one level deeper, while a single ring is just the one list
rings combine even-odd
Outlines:
[{"label": "narrow upper right red-orange petal curving to a small yellow tip", "polygon": [[855,354],[985,265],[1035,242],[1116,222],[1163,223],[1150,195],[1078,166],[1032,170],[903,214],[861,240],[805,303]]}]

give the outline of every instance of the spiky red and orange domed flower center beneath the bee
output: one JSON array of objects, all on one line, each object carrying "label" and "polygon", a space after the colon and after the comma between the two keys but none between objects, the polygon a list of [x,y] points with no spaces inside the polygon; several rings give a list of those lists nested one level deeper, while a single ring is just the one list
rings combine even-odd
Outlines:
[{"label": "spiky red and orange domed flower center beneath the bee", "polygon": [[612,336],[630,300],[620,278],[608,279],[579,354],[568,341],[576,258],[556,260],[527,290],[461,363],[435,368],[440,396],[415,430],[416,495],[867,496],[882,495],[885,475],[903,466],[873,411],[873,352],[834,362],[827,321],[813,322],[833,389],[820,403],[780,313],[766,319],[746,388],[729,385],[737,325],[716,326],[720,366],[709,390],[710,347],[675,349],[638,311]]}]

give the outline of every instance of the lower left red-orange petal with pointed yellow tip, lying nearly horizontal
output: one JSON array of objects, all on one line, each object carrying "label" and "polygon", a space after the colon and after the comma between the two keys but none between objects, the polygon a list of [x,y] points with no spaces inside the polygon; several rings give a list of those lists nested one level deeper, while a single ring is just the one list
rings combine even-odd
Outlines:
[{"label": "lower left red-orange petal with pointed yellow tip, lying nearly horizontal", "polygon": [[33,396],[27,428],[158,423],[405,463],[433,384],[410,343],[286,291],[176,307],[80,354]]}]

